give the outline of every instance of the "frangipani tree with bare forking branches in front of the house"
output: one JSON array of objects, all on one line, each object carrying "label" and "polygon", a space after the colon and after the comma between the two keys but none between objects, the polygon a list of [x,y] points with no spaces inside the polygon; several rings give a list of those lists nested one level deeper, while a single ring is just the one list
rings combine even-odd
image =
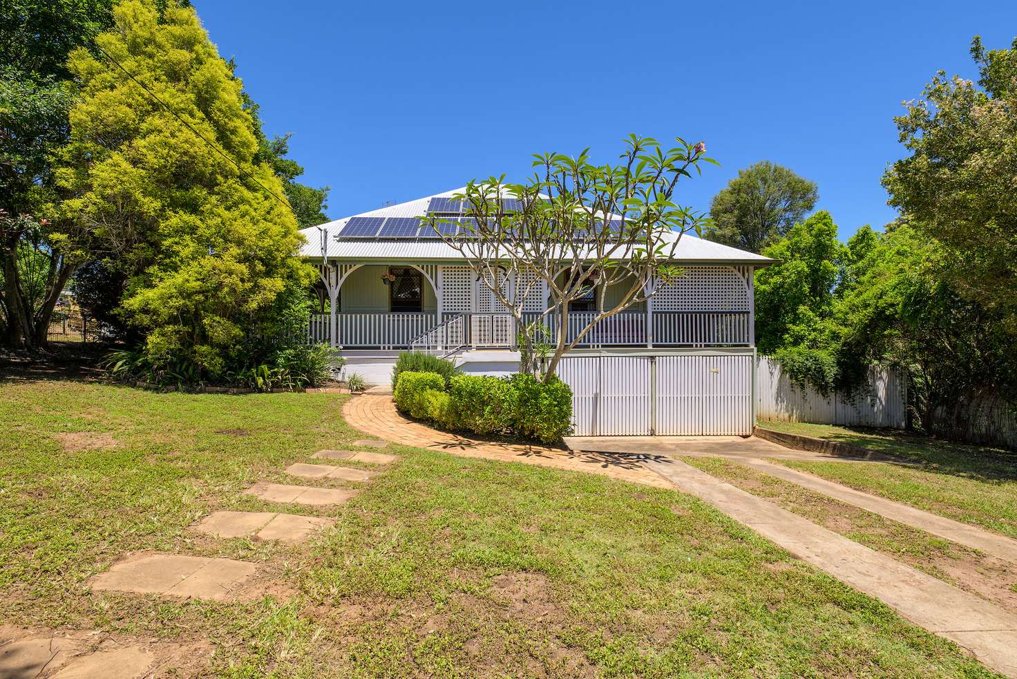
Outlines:
[{"label": "frangipani tree with bare forking branches in front of the house", "polygon": [[[678,276],[674,251],[681,234],[701,234],[710,224],[703,213],[675,203],[681,178],[716,161],[701,142],[680,137],[664,149],[656,139],[630,135],[615,165],[595,165],[589,149],[577,157],[535,155],[534,175],[507,183],[504,175],[471,181],[454,196],[464,202],[461,233],[442,233],[436,214],[427,219],[439,237],[458,250],[518,327],[526,326],[523,300],[541,294],[541,316],[553,338],[543,380],[555,374],[561,356],[601,321],[650,299],[661,282]],[[511,282],[508,285],[506,283]],[[605,292],[616,295],[605,306]],[[570,304],[594,291],[596,313],[570,336]],[[585,317],[584,317],[585,318]],[[524,333],[524,351],[534,335]]]}]

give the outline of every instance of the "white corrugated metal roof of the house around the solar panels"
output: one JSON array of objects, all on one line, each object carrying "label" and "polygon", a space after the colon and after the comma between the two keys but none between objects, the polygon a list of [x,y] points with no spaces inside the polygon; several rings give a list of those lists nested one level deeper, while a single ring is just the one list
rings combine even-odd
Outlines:
[{"label": "white corrugated metal roof of the house around the solar panels", "polygon": [[[337,219],[320,226],[312,226],[301,231],[307,242],[300,249],[300,256],[308,259],[321,259],[321,231],[327,232],[327,256],[330,260],[347,260],[355,262],[392,260],[427,260],[427,261],[463,261],[463,256],[451,245],[436,239],[426,240],[336,240],[335,235],[342,230],[346,222],[354,217],[416,217],[427,210],[427,203],[432,197],[446,197],[463,192],[464,188],[455,188],[442,193],[427,195],[415,201],[400,203],[371,210],[370,212],[351,215]],[[673,237],[677,238],[675,231]],[[728,245],[715,243],[685,234],[680,236],[675,249],[675,261],[687,263],[722,263],[749,264],[767,266],[773,260],[747,252]]]}]

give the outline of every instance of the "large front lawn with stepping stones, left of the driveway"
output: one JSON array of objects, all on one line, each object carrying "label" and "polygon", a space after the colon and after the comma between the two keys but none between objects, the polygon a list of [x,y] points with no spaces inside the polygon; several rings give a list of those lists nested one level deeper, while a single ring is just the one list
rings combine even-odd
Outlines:
[{"label": "large front lawn with stepping stones, left of the driveway", "polygon": [[[278,508],[241,492],[360,438],[344,398],[0,383],[0,616],[203,643],[233,677],[992,676],[703,503],[595,474],[397,446],[308,545],[188,529]],[[272,595],[89,591],[136,550],[254,561]]]}]

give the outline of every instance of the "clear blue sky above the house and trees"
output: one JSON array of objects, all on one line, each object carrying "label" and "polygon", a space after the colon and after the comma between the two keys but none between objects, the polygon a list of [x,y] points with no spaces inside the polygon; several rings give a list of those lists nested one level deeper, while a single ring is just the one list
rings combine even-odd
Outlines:
[{"label": "clear blue sky above the house and trees", "polygon": [[332,218],[506,173],[530,154],[613,160],[629,132],[703,139],[722,164],[679,189],[707,210],[768,159],[819,184],[847,237],[894,213],[893,116],[937,69],[973,77],[971,37],[1009,46],[1017,2],[194,0],[224,57],[293,132]]}]

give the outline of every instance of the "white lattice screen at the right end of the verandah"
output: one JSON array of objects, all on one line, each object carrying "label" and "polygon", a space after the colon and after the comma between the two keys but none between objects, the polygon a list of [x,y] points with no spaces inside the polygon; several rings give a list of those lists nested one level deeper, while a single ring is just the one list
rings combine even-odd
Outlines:
[{"label": "white lattice screen at the right end of the verandah", "polygon": [[747,312],[749,287],[733,267],[684,267],[653,296],[655,312]]}]

